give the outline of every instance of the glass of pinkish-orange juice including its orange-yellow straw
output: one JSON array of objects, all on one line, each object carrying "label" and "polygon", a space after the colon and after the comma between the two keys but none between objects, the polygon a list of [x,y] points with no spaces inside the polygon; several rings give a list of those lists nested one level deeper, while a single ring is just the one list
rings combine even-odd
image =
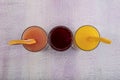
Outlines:
[{"label": "glass of pinkish-orange juice including its orange-yellow straw", "polygon": [[37,52],[47,45],[47,33],[39,26],[30,26],[24,30],[21,40],[11,40],[9,44],[23,44],[24,48]]}]

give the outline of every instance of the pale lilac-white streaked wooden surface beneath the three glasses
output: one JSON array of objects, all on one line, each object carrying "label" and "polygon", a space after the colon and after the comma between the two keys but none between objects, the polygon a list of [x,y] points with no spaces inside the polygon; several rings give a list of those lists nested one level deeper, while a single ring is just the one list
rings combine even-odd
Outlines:
[{"label": "pale lilac-white streaked wooden surface beneath the three glasses", "polygon": [[[74,33],[86,24],[112,44],[36,53],[7,45],[31,25],[47,32],[65,25]],[[120,0],[0,0],[0,80],[120,80]]]}]

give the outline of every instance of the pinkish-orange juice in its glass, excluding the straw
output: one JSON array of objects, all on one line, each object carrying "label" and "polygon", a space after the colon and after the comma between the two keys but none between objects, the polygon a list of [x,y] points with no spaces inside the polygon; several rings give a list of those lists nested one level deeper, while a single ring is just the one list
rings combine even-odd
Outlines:
[{"label": "pinkish-orange juice in its glass, excluding the straw", "polygon": [[23,32],[22,39],[23,40],[27,40],[27,39],[36,40],[35,44],[31,44],[31,45],[24,44],[23,45],[27,50],[32,51],[32,52],[42,50],[43,48],[45,48],[47,44],[47,34],[42,28],[38,26],[31,26],[27,28]]}]

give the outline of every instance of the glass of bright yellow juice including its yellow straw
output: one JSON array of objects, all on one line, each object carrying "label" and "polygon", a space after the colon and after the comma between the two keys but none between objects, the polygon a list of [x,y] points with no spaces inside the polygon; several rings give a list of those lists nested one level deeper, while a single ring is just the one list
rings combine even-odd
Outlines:
[{"label": "glass of bright yellow juice including its yellow straw", "polygon": [[75,44],[84,51],[95,49],[100,42],[110,44],[107,38],[100,37],[99,31],[92,25],[84,25],[77,29],[74,36]]}]

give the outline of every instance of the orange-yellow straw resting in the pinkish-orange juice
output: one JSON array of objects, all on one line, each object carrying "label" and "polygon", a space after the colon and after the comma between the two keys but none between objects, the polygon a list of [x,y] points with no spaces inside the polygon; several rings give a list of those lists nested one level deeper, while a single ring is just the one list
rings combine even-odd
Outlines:
[{"label": "orange-yellow straw resting in the pinkish-orange juice", "polygon": [[17,45],[17,44],[35,44],[35,39],[27,39],[27,40],[11,40],[8,42],[9,45]]}]

